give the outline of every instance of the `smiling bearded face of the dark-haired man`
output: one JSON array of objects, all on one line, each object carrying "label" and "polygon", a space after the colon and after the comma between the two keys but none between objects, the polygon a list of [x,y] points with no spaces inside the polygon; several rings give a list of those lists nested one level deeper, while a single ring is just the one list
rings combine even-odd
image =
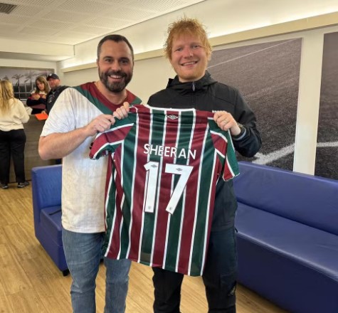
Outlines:
[{"label": "smiling bearded face of the dark-haired man", "polygon": [[121,92],[132,80],[132,51],[124,41],[102,43],[97,68],[101,83],[109,92]]}]

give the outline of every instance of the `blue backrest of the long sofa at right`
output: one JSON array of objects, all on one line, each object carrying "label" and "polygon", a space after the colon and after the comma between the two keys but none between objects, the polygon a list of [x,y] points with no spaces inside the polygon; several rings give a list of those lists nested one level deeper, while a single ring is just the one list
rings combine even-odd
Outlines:
[{"label": "blue backrest of the long sofa at right", "polygon": [[338,181],[239,162],[238,202],[338,235]]}]

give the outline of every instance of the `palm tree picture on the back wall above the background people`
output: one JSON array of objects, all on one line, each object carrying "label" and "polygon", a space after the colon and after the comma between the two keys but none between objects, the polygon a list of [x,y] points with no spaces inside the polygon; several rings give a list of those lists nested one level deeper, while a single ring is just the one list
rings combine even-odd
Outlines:
[{"label": "palm tree picture on the back wall above the background people", "polygon": [[35,80],[38,76],[47,76],[54,73],[53,68],[11,68],[0,66],[0,79],[9,80],[14,87],[14,95],[21,101],[31,95],[35,87]]}]

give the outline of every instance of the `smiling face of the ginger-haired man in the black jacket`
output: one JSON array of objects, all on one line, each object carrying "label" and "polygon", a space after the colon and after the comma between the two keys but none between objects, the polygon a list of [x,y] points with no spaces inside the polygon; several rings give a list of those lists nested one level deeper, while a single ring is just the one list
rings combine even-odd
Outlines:
[{"label": "smiling face of the ginger-haired man in the black jacket", "polygon": [[175,36],[170,56],[170,63],[181,83],[196,81],[204,76],[208,55],[197,36],[189,33]]}]

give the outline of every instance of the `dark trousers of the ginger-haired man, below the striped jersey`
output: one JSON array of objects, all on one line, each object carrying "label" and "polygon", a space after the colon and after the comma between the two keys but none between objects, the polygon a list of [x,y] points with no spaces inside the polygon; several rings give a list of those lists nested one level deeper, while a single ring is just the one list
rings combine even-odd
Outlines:
[{"label": "dark trousers of the ginger-haired man, below the striped jersey", "polygon": [[[154,312],[179,313],[184,275],[153,267]],[[236,312],[237,249],[235,228],[211,232],[203,282],[208,312]]]}]

